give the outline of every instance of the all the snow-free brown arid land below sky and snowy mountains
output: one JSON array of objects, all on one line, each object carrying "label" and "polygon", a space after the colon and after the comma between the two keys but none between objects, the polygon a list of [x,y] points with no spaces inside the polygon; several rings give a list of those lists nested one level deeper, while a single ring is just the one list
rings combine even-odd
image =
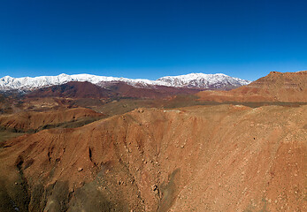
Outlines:
[{"label": "all the snow-free brown arid land below sky and snowy mountains", "polygon": [[307,72],[229,91],[0,95],[0,211],[306,211]]}]

